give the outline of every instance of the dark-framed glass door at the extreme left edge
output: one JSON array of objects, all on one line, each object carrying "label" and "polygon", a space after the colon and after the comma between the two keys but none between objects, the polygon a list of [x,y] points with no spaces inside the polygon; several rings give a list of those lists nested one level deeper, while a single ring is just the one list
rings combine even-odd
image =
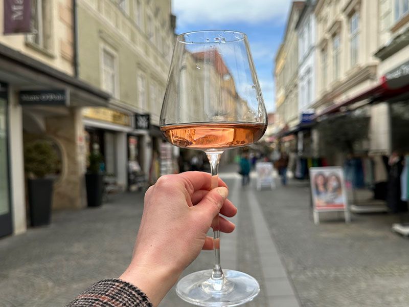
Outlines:
[{"label": "dark-framed glass door at the extreme left edge", "polygon": [[7,87],[0,86],[0,237],[11,234]]}]

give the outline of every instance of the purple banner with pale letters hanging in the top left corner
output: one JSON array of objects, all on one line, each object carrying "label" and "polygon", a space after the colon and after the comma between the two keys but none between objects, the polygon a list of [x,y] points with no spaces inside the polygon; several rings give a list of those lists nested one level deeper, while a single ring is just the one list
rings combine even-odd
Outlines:
[{"label": "purple banner with pale letters hanging in the top left corner", "polygon": [[31,32],[30,0],[4,0],[4,34]]}]

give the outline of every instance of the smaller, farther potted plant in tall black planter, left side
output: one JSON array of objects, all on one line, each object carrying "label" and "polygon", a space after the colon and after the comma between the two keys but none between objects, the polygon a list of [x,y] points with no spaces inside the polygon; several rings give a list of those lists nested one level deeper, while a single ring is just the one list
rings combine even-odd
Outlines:
[{"label": "smaller, farther potted plant in tall black planter, left side", "polygon": [[101,165],[104,157],[99,152],[98,144],[94,144],[93,152],[88,156],[88,172],[85,174],[86,199],[88,207],[99,207],[102,205],[102,194],[104,192],[104,174]]}]

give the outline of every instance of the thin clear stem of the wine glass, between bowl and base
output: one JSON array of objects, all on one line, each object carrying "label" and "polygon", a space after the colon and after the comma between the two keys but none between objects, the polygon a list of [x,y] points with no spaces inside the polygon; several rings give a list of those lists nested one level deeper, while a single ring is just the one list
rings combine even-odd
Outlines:
[{"label": "thin clear stem of the wine glass, between bowl and base", "polygon": [[[210,162],[210,168],[212,170],[212,185],[211,188],[217,188],[219,186],[219,162],[223,151],[211,151],[206,152]],[[219,228],[219,215],[217,214],[212,222],[213,228],[213,249],[214,249],[214,265],[212,271],[212,279],[220,280],[224,279],[223,271],[220,266],[220,228]]]}]

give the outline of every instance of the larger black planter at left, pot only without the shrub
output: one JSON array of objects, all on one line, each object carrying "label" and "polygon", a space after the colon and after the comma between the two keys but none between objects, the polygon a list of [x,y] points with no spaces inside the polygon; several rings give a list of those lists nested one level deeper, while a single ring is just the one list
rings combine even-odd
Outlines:
[{"label": "larger black planter at left, pot only without the shrub", "polygon": [[50,225],[53,183],[52,179],[28,179],[31,226]]}]

